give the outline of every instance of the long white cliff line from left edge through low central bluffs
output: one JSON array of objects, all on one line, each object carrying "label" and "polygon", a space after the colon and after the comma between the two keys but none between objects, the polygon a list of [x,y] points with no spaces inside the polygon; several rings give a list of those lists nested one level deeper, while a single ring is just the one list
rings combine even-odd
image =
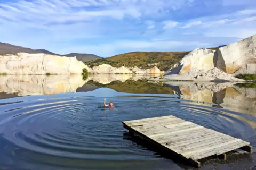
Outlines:
[{"label": "long white cliff line from left edge through low central bluffs", "polygon": [[92,74],[161,74],[156,66],[151,69],[131,70],[124,66],[115,68],[101,64],[92,69],[76,57],[64,57],[49,54],[18,53],[15,55],[0,55],[0,73],[7,74],[81,74],[86,68]]}]

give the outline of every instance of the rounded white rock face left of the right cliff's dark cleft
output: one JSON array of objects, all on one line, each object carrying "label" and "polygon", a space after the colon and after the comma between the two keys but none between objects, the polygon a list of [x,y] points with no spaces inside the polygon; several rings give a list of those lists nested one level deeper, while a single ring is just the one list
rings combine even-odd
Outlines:
[{"label": "rounded white rock face left of the right cliff's dark cleft", "polygon": [[211,49],[195,49],[175,64],[169,74],[208,71],[214,67],[214,52]]}]

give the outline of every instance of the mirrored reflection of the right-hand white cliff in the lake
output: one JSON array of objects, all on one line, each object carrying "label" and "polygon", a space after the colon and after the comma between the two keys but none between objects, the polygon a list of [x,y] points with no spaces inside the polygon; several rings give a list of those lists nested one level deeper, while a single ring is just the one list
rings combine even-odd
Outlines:
[{"label": "mirrored reflection of the right-hand white cliff in the lake", "polygon": [[165,82],[182,99],[214,103],[236,112],[256,116],[256,89],[235,86],[235,83]]}]

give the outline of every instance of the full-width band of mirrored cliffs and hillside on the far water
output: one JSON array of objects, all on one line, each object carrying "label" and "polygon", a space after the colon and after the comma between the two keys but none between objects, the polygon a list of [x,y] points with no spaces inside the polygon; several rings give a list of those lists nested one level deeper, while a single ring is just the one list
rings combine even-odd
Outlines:
[{"label": "full-width band of mirrored cliffs and hillside on the far water", "polygon": [[[136,94],[177,94],[180,98],[199,103],[217,104],[236,112],[255,116],[256,90],[246,84],[212,82],[158,82],[145,78],[157,74],[130,75],[7,75],[0,76],[0,98],[29,95],[51,95],[67,92],[85,92],[107,87],[118,92]],[[254,84],[249,84],[250,87]]]}]

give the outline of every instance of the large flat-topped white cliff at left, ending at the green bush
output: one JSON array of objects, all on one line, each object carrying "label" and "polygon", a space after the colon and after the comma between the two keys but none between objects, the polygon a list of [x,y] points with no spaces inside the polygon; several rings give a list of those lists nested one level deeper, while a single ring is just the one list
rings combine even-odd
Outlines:
[{"label": "large flat-topped white cliff at left, ending at the green bush", "polygon": [[0,73],[7,74],[81,74],[88,67],[76,57],[61,57],[49,54],[0,56]]}]

